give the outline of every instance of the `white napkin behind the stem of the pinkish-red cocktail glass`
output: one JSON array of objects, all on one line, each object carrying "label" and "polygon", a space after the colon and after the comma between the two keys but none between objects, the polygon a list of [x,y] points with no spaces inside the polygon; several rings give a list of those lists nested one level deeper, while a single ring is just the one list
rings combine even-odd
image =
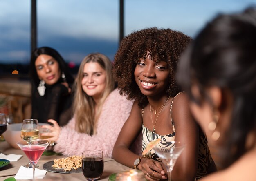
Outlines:
[{"label": "white napkin behind the stem of the pinkish-red cocktail glass", "polygon": [[[37,179],[43,179],[46,174],[46,170],[40,170],[35,169],[36,178]],[[33,179],[33,168],[25,168],[23,166],[20,166],[20,169],[18,170],[16,176],[14,177],[16,180],[29,180]]]}]

